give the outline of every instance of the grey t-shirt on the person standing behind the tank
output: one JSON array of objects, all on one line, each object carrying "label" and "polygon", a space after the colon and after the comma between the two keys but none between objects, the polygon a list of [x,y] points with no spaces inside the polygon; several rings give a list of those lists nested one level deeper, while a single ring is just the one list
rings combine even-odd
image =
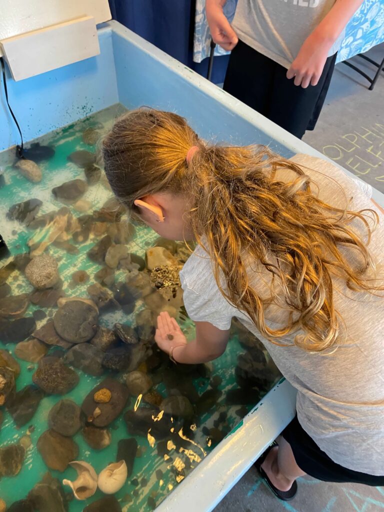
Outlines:
[{"label": "grey t-shirt on the person standing behind the tank", "polygon": [[[239,0],[232,27],[254,50],[289,68],[305,39],[333,7],[335,0]],[[336,53],[345,30],[328,53]]]}]

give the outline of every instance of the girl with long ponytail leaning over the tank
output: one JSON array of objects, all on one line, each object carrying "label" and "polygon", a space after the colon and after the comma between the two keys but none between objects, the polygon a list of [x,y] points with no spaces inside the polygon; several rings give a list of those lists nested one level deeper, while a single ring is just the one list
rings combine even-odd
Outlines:
[{"label": "girl with long ponytail leaning over the tank", "polygon": [[197,242],[180,272],[196,339],[163,312],[158,346],[176,362],[215,359],[235,317],[297,389],[261,468],[275,494],[292,498],[306,473],[384,485],[384,211],[329,162],[208,144],[169,112],[126,114],[102,153],[132,214]]}]

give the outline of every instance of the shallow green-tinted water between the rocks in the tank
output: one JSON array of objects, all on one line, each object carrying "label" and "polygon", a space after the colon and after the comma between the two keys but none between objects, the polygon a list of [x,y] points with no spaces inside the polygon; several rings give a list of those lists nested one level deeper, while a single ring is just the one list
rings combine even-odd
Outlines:
[{"label": "shallow green-tinted water between the rocks in the tank", "polygon": [[[32,198],[39,199],[42,202],[37,216],[53,210],[57,211],[63,207],[63,203],[52,194],[52,188],[69,180],[86,179],[84,177],[84,170],[75,163],[68,161],[67,157],[74,151],[79,150],[95,152],[95,145],[86,144],[83,141],[83,132],[87,127],[94,127],[100,132],[107,130],[119,112],[121,112],[121,107],[115,105],[111,109],[81,120],[75,125],[41,137],[38,141],[41,144],[48,144],[53,147],[55,154],[48,160],[39,162],[43,175],[42,181],[39,183],[31,183],[14,168],[12,165],[13,155],[10,156],[6,152],[0,154],[0,168],[4,169],[5,177],[5,185],[2,187],[0,185],[0,233],[11,251],[11,256],[8,260],[3,259],[1,261],[0,269],[3,264],[6,265],[11,261],[16,254],[28,252],[27,242],[32,236],[36,236],[36,230],[26,227],[24,223],[20,223],[17,220],[7,218],[9,208],[15,203]],[[93,211],[100,209],[105,201],[111,197],[111,190],[105,186],[101,179],[95,184],[90,184],[86,193],[81,197],[81,199],[90,201],[91,207],[89,211],[78,212],[73,208],[73,204],[66,204],[65,206],[70,209],[71,214],[75,218],[78,218],[83,215],[92,215]],[[122,221],[124,222],[124,217]],[[102,227],[100,227],[100,230],[102,230]],[[36,241],[37,239],[39,241],[47,240],[51,232],[52,230],[47,234],[47,232],[42,233],[38,231],[40,236],[36,238]],[[46,252],[51,254],[58,262],[62,291],[66,296],[89,298],[87,288],[95,283],[94,274],[104,265],[91,261],[87,251],[104,234],[99,234],[99,232],[91,234],[86,242],[74,241],[69,237],[68,242],[78,248],[78,253],[76,254],[70,254],[53,244],[47,246]],[[136,234],[126,246],[130,253],[144,258],[146,249],[153,246],[156,239],[156,233],[149,228],[136,226]],[[33,249],[36,250],[36,245]],[[89,280],[74,286],[72,274],[78,270],[86,271],[89,275]],[[116,270],[115,283],[124,282],[129,271],[132,271],[132,268],[129,270],[123,268]],[[4,275],[3,273],[3,281],[10,285],[11,295],[26,293],[30,296],[33,293],[33,286],[26,279],[23,271],[15,270],[10,273],[7,279],[4,278]],[[2,279],[1,276],[0,270],[0,281]],[[154,292],[159,293],[156,291],[156,288],[154,288]],[[99,325],[111,329],[115,323],[135,326],[137,313],[145,307],[142,298],[138,298],[134,306],[135,309],[130,314],[127,314],[122,309],[113,309],[105,313],[100,312],[98,318]],[[56,313],[57,305],[44,308],[29,303],[28,309],[23,315],[30,317],[36,310],[43,310],[47,315],[46,318],[36,321],[38,329]],[[194,336],[193,323],[185,317],[185,312],[183,314],[183,311],[181,314],[178,312],[178,318],[188,339],[192,339]],[[3,343],[4,337],[2,338],[1,332],[0,342],[2,342],[0,343],[0,349],[6,349],[11,354],[14,354],[16,343]],[[139,343],[142,342],[139,341]],[[123,344],[120,343],[120,345],[122,346]],[[247,346],[253,348],[249,350]],[[240,421],[241,417],[280,378],[278,370],[273,366],[268,354],[262,350],[260,344],[255,341],[250,333],[247,334],[243,330],[238,331],[236,327],[233,328],[233,334],[226,352],[208,365],[194,367],[178,365],[175,367],[155,346],[152,347],[152,351],[154,355],[142,361],[139,367],[141,371],[147,373],[153,379],[154,386],[152,391],[156,391],[163,398],[189,393],[193,414],[188,415],[187,419],[178,419],[175,415],[171,419],[170,416],[162,416],[161,410],[158,409],[159,415],[156,419],[160,418],[158,424],[168,425],[168,435],[162,436],[162,439],[157,439],[153,435],[156,431],[154,428],[155,422],[149,421],[146,429],[144,429],[145,435],[134,436],[127,430],[123,416],[126,411],[134,411],[133,417],[135,418],[135,414],[138,414],[147,404],[144,403],[142,395],[130,395],[123,411],[108,425],[111,434],[111,444],[109,446],[98,451],[92,449],[84,440],[81,429],[73,436],[73,440],[77,443],[79,449],[77,460],[87,461],[92,464],[97,474],[110,462],[116,461],[117,443],[120,439],[136,438],[138,450],[132,474],[115,495],[122,510],[129,510],[130,512],[153,510],[196,467],[198,462],[209,454],[218,444],[220,438],[228,434]],[[62,352],[57,352],[57,347],[49,346],[48,355],[52,353],[55,353],[56,356],[63,355]],[[239,368],[236,370],[236,367],[239,367],[239,356],[245,353],[248,353],[248,355],[240,361],[242,370],[239,370]],[[36,371],[38,364],[37,362],[23,361],[16,356],[15,359],[20,365],[20,374],[16,378],[16,391],[19,391],[32,383],[32,375]],[[248,368],[250,369],[249,372]],[[111,376],[124,383],[127,373],[126,371],[112,372],[104,369],[103,375],[91,376],[79,369],[74,368],[74,370],[79,376],[77,386],[65,395],[45,395],[40,401],[32,419],[23,426],[18,428],[15,425],[6,409],[7,403],[5,406],[0,407],[4,414],[3,425],[0,431],[1,446],[4,447],[18,443],[26,435],[29,436],[31,441],[31,446],[25,452],[20,472],[15,476],[6,476],[1,479],[0,497],[5,500],[8,506],[14,501],[26,498],[29,491],[41,480],[47,471],[60,482],[63,478],[69,480],[75,480],[76,478],[75,470],[70,466],[63,472],[50,470],[42,460],[36,447],[40,435],[49,428],[47,423],[48,413],[53,405],[63,398],[69,398],[76,402],[78,406],[81,406],[84,397],[106,376]],[[254,373],[255,371],[256,374]],[[247,381],[248,377],[249,380]],[[186,390],[187,385],[189,385],[189,390]],[[193,388],[193,392],[191,392],[190,387]],[[195,400],[191,396],[194,394],[196,395]],[[83,424],[86,419],[85,416],[82,417]],[[31,425],[33,425],[33,428],[30,428]],[[29,434],[27,434],[28,429]],[[167,426],[165,426],[165,430],[167,430]],[[68,510],[70,512],[79,512],[86,505],[103,496],[101,491],[97,490],[96,494],[87,500],[71,500],[70,487],[65,486],[63,488],[70,500],[68,503]]]}]

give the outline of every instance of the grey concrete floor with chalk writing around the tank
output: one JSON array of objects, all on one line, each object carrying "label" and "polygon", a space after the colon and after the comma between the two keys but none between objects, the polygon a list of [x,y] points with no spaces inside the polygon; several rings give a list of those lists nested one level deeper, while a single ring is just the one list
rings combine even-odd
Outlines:
[{"label": "grey concrete floor with chalk writing around the tank", "polygon": [[[367,55],[380,62],[384,45]],[[370,76],[376,72],[377,68],[359,57],[352,61]],[[368,87],[365,78],[339,63],[316,128],[303,140],[384,192],[384,72],[373,91]],[[384,487],[320,482],[311,477],[300,478],[297,483],[296,497],[288,503],[280,501],[251,467],[214,512],[384,510]]]}]

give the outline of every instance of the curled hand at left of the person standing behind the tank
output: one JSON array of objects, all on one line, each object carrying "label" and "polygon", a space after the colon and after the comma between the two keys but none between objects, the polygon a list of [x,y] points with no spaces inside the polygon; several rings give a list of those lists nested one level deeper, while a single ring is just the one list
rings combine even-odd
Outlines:
[{"label": "curled hand at left of the person standing behind the tank", "polygon": [[238,44],[238,36],[223,13],[222,0],[206,0],[205,11],[210,34],[217,45],[230,51]]}]

